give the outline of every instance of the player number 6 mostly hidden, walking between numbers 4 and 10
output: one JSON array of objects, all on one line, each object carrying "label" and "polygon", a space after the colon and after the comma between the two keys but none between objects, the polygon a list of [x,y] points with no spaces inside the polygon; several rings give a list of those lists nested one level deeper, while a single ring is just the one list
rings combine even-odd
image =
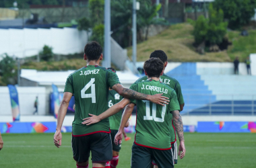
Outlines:
[{"label": "player number 6 mostly hidden, walking between numbers 4 and 10", "polygon": [[[111,71],[113,71],[114,73],[116,73],[115,69],[113,68],[108,68]],[[117,93],[117,91],[110,89],[108,91],[108,108],[111,108],[114,104],[118,103],[119,101],[121,101],[121,99],[123,99],[123,96],[119,95],[119,93]],[[115,139],[115,135],[118,132],[119,129],[119,125],[121,122],[121,118],[122,118],[122,113],[123,110],[120,110],[117,114],[110,116],[108,118],[109,120],[109,124],[110,124],[110,136],[111,136],[111,140],[112,140],[112,149],[113,149],[113,158],[112,160],[106,163],[106,167],[105,168],[115,168],[117,167],[117,164],[119,162],[119,151],[121,150],[121,144],[115,144],[114,139]],[[129,121],[127,122],[126,126],[129,126]]]}]

